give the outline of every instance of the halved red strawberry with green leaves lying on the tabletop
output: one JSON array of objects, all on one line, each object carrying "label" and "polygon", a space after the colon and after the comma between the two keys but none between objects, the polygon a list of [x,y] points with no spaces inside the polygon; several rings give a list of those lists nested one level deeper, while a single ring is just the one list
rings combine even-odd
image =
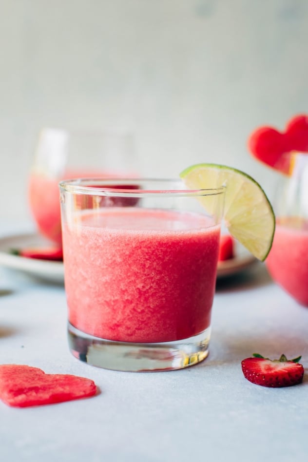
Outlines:
[{"label": "halved red strawberry with green leaves lying on the tabletop", "polygon": [[298,358],[288,360],[282,354],[279,359],[270,360],[258,353],[242,361],[242,371],[247,380],[256,385],[282,387],[300,384],[304,377],[304,367]]}]

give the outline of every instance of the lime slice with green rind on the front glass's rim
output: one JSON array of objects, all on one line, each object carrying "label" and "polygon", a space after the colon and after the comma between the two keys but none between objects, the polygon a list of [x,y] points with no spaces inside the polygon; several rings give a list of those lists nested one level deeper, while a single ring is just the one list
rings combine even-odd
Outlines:
[{"label": "lime slice with green rind on the front glass's rim", "polygon": [[196,164],[183,170],[180,177],[189,189],[225,186],[228,231],[256,258],[266,259],[274,237],[275,215],[263,189],[250,175],[226,165]]}]

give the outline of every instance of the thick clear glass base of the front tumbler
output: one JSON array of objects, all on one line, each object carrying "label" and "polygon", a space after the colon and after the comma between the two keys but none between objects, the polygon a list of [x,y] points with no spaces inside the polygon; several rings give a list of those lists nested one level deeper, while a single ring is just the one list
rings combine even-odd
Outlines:
[{"label": "thick clear glass base of the front tumbler", "polygon": [[189,339],[162,343],[129,343],[85,334],[68,323],[72,354],[92,366],[123,371],[167,371],[193,366],[209,353],[211,328]]}]

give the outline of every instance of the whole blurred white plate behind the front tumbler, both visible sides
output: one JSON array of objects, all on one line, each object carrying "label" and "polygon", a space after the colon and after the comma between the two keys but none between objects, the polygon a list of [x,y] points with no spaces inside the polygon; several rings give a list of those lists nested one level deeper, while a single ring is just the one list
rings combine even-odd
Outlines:
[{"label": "whole blurred white plate behind the front tumbler, both visible sides", "polygon": [[[11,253],[12,249],[44,246],[46,242],[46,240],[35,233],[2,237],[0,238],[0,265],[26,272],[40,279],[63,283],[64,269],[62,262],[37,260]],[[240,273],[256,262],[256,259],[241,246],[236,246],[235,252],[235,258],[218,263],[217,278]]]}]

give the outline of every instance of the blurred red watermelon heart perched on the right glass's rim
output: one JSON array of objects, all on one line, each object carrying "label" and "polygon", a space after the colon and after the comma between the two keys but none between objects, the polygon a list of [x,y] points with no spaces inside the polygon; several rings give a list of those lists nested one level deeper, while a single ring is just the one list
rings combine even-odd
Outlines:
[{"label": "blurred red watermelon heart perched on the right glass's rim", "polygon": [[250,153],[259,161],[287,175],[291,172],[292,152],[308,153],[308,116],[292,117],[284,132],[260,127],[248,139]]}]

